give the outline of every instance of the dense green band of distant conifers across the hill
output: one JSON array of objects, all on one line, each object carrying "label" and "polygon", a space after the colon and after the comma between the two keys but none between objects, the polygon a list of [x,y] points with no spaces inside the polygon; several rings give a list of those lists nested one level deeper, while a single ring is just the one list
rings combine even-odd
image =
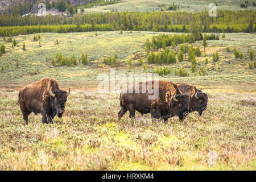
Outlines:
[{"label": "dense green band of distant conifers across the hill", "polygon": [[[218,10],[216,17],[210,17],[207,11],[201,11],[200,13],[92,13],[75,14],[72,17],[52,15],[20,17],[1,14],[0,25],[2,28],[0,36],[30,34],[31,31],[32,33],[115,30],[191,32],[193,24],[198,25],[200,32],[255,32],[255,15],[256,10]],[[47,28],[48,25],[51,26]],[[21,27],[13,28],[11,26]]]}]

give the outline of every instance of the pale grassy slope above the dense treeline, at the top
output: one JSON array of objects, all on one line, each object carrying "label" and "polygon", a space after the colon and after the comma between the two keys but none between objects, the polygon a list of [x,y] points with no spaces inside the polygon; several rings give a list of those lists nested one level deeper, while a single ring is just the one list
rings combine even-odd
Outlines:
[{"label": "pale grassy slope above the dense treeline, at the top", "polygon": [[[113,5],[106,5],[106,6],[100,6],[95,7],[92,9],[85,9],[85,13],[90,13],[92,11],[109,11],[109,10],[118,10],[118,11],[160,11],[163,7],[168,7],[175,3],[175,5],[179,5],[180,9],[177,11],[189,11],[189,12],[197,12],[197,11],[203,11],[205,9],[208,10],[209,3],[217,2],[218,6],[217,9],[223,9],[223,10],[243,10],[240,7],[241,3],[244,3],[244,1],[238,1],[238,0],[229,0],[229,1],[183,1],[183,0],[177,0],[177,1],[169,1],[169,0],[126,0],[121,1],[117,4]],[[251,2],[252,3],[252,2]],[[158,5],[164,5],[164,6],[158,6]],[[253,6],[247,7],[247,9],[255,9]]]}]

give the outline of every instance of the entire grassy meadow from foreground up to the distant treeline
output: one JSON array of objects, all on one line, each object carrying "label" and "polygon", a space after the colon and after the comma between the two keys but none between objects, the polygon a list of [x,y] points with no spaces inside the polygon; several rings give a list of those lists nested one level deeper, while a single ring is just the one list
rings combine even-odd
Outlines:
[{"label": "entire grassy meadow from foreground up to the distant treeline", "polygon": [[[193,76],[188,61],[147,64],[146,40],[159,34],[163,32],[42,33],[42,47],[34,34],[13,36],[17,47],[0,38],[6,46],[0,57],[0,170],[255,170],[256,71],[248,66],[248,50],[256,51],[255,34],[220,34],[220,40],[207,40],[205,52],[203,41],[193,43],[202,52],[196,57],[197,71],[204,67],[205,76]],[[243,59],[234,57],[234,47]],[[216,50],[220,60],[213,63]],[[75,55],[78,65],[53,67],[51,57],[57,52]],[[79,63],[82,52],[89,58],[85,66]],[[177,117],[167,124],[152,122],[149,114],[139,113],[131,120],[128,112],[117,122],[119,92],[97,92],[98,74],[109,74],[111,68],[103,59],[115,52],[116,73],[136,75],[168,67],[171,73],[159,78],[202,88],[209,95],[207,110],[201,117],[190,113],[184,123]],[[174,70],[180,67],[190,76],[176,76]],[[71,87],[65,114],[52,125],[31,114],[25,125],[18,89],[44,77],[55,78],[61,89]]]}]

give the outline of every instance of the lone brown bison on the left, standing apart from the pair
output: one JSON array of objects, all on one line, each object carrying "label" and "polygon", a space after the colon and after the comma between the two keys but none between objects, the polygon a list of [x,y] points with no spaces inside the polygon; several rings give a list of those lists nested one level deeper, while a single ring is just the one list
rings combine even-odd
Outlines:
[{"label": "lone brown bison on the left, standing apart from the pair", "polygon": [[69,94],[69,88],[68,92],[60,90],[57,81],[52,78],[44,78],[20,89],[19,105],[26,124],[31,112],[41,113],[43,123],[52,123],[56,114],[61,118]]}]

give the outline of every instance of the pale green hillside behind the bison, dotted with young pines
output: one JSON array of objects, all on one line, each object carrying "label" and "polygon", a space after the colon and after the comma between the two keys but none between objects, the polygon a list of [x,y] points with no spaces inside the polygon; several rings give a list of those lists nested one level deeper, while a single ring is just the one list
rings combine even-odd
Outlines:
[{"label": "pale green hillside behind the bison, dotted with young pines", "polygon": [[[15,36],[18,42],[18,47],[12,47],[12,43],[6,43],[3,39],[1,44],[5,44],[6,53],[0,57],[0,86],[5,87],[6,82],[15,85],[23,84],[23,82],[31,82],[40,80],[44,77],[54,77],[58,81],[95,81],[98,73],[109,73],[110,66],[103,63],[104,57],[114,56],[117,52],[117,73],[152,73],[158,65],[146,63],[146,52],[144,46],[146,39],[152,38],[153,35],[163,34],[163,32],[129,32],[124,31],[120,34],[119,31],[114,32],[82,32],[69,34],[53,34],[42,33],[41,44],[33,41],[34,35]],[[167,33],[168,34],[168,33]],[[169,33],[171,34],[171,33]],[[38,35],[38,34],[37,34]],[[56,44],[58,39],[59,44]],[[22,50],[22,44],[26,43],[26,51]],[[249,84],[256,81],[254,75],[255,69],[249,69],[249,52],[253,49],[256,51],[255,34],[226,34],[226,38],[220,40],[208,40],[208,47],[204,54],[203,42],[193,43],[193,46],[200,46],[202,57],[196,57],[197,68],[204,67],[207,76],[193,76],[191,73],[191,63],[188,61],[178,62],[176,64],[164,65],[171,69],[170,75],[162,77],[163,79],[172,79],[179,81],[180,77],[174,75],[175,68],[186,68],[190,76],[186,78],[189,81],[214,80],[214,81],[235,81],[248,82]],[[226,52],[226,46],[229,46],[231,51]],[[233,48],[243,53],[243,59],[235,59]],[[170,47],[172,48],[172,47]],[[175,47],[179,50],[179,46]],[[220,61],[212,62],[212,54],[218,50]],[[81,58],[82,52],[86,52],[89,57],[89,64],[83,67],[81,64],[73,67],[53,67],[51,65],[51,57],[54,57],[57,52],[64,56],[75,55],[78,59]],[[139,65],[139,57],[142,57],[146,65],[146,71],[143,71],[142,65]],[[208,58],[209,63],[205,64],[205,59]],[[131,70],[129,69],[129,59],[132,60]],[[16,68],[18,62],[19,67]],[[198,73],[197,73],[198,75]]]}]

